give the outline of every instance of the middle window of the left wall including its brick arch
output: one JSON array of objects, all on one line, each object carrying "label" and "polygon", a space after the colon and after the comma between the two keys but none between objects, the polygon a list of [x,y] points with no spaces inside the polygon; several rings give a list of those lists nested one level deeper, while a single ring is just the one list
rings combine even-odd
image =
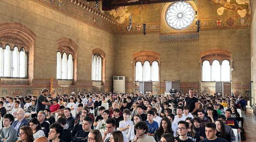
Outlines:
[{"label": "middle window of the left wall including its brick arch", "polygon": [[57,41],[57,79],[76,80],[78,46],[74,41],[61,37]]}]

